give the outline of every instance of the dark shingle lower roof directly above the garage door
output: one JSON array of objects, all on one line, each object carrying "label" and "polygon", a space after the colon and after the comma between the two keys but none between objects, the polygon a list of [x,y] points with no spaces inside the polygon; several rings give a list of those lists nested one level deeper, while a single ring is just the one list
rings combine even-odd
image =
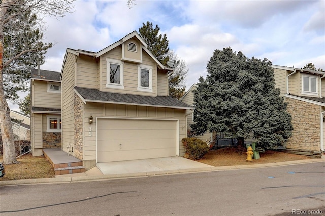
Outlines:
[{"label": "dark shingle lower roof directly above the garage door", "polygon": [[170,96],[151,97],[132,94],[119,94],[112,92],[103,92],[99,91],[98,89],[81,88],[77,86],[75,87],[75,89],[86,101],[175,107],[179,109],[193,109],[192,106]]}]

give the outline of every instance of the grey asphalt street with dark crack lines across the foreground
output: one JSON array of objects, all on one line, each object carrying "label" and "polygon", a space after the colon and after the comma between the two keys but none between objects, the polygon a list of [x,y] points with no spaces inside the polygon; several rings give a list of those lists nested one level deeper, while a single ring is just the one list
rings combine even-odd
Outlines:
[{"label": "grey asphalt street with dark crack lines across the foreground", "polygon": [[0,187],[0,215],[325,215],[324,206],[325,162]]}]

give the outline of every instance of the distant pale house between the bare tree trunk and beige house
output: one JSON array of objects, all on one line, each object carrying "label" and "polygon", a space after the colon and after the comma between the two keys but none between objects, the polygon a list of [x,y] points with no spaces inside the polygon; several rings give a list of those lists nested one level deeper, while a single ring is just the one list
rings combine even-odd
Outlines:
[{"label": "distant pale house between the bare tree trunk and beige house", "polygon": [[10,117],[18,120],[17,122],[12,121],[15,140],[30,141],[30,116],[10,110]]}]

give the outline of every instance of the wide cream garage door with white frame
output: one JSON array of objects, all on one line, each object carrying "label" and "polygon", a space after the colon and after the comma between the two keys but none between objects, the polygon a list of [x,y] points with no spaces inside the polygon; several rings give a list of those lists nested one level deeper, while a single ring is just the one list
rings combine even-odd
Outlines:
[{"label": "wide cream garage door with white frame", "polygon": [[98,119],[97,162],[175,156],[176,127],[171,120]]}]

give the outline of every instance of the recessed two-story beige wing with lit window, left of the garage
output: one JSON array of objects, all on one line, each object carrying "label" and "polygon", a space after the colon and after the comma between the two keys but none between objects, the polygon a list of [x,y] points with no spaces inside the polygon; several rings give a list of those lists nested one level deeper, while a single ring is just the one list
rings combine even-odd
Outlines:
[{"label": "recessed two-story beige wing with lit window, left of the garage", "polygon": [[61,148],[61,81],[59,72],[31,69],[31,145],[33,156],[43,148]]}]

